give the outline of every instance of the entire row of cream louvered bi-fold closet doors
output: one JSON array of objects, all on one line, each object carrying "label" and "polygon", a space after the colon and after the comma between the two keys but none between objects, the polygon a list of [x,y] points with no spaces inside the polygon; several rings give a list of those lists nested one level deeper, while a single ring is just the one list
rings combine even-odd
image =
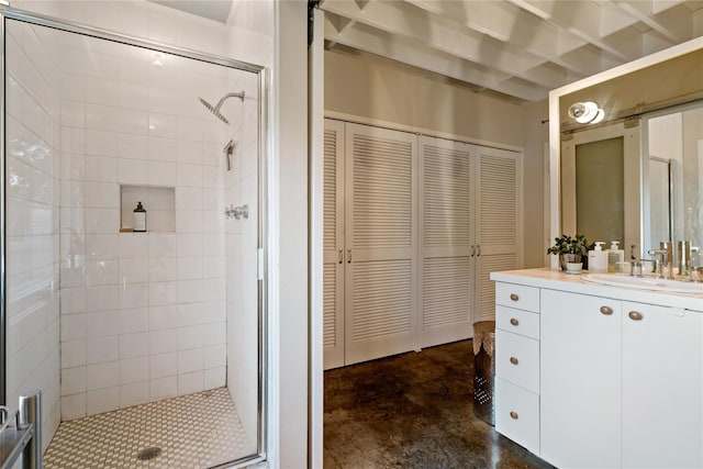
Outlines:
[{"label": "entire row of cream louvered bi-fold closet doors", "polygon": [[517,154],[325,121],[324,367],[471,337],[517,267]]}]

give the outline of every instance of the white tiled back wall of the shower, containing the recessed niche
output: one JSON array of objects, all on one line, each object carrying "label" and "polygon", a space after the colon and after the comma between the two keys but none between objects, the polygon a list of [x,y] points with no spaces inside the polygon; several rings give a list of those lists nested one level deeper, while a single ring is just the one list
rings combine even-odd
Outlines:
[{"label": "white tiled back wall of the shower, containing the recessed niche", "polygon": [[[171,89],[155,79],[161,70],[125,74],[114,49],[93,49],[87,76],[66,69],[87,83],[86,101],[71,91],[62,107],[64,418],[225,384],[232,129],[197,97],[214,89],[216,99],[226,81],[208,85],[201,71]],[[119,233],[137,201],[147,233]]]}]

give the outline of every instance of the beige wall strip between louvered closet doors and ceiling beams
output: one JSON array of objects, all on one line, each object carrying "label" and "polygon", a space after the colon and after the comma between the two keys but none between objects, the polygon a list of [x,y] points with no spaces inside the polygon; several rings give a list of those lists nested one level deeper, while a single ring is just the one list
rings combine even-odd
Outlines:
[{"label": "beige wall strip between louvered closet doors and ceiling beams", "polygon": [[325,111],[523,145],[520,104],[472,92],[436,74],[372,56],[325,53]]}]

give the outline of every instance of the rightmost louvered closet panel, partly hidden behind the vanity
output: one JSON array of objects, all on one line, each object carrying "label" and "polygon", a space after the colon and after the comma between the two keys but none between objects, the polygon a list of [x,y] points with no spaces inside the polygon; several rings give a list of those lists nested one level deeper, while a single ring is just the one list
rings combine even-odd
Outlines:
[{"label": "rightmost louvered closet panel, partly hidden behind the vanity", "polygon": [[477,147],[477,299],[475,321],[495,319],[495,284],[489,275],[518,268],[521,230],[518,153]]}]

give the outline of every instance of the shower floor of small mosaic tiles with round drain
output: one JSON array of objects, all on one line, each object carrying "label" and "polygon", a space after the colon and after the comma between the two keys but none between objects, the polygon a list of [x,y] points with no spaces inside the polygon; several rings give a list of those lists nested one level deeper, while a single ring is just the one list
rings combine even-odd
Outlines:
[{"label": "shower floor of small mosaic tiles with round drain", "polygon": [[[247,455],[226,388],[63,422],[44,455],[45,469],[200,469]],[[140,459],[157,447],[160,455]]]}]

